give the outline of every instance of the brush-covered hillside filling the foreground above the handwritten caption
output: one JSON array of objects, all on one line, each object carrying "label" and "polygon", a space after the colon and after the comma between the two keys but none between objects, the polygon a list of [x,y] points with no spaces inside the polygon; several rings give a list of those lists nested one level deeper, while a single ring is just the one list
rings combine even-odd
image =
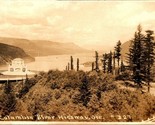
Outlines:
[{"label": "brush-covered hillside filling the foreground above the handwritten caption", "polygon": [[128,87],[95,71],[41,72],[23,84],[1,85],[1,119],[22,114],[41,121],[142,121],[155,115],[155,97]]}]

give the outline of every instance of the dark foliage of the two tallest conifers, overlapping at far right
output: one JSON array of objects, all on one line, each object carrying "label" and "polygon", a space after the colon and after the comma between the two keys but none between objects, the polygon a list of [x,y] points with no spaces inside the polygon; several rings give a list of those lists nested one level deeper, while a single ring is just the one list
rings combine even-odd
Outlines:
[{"label": "dark foliage of the two tallest conifers, overlapping at far right", "polygon": [[154,63],[154,39],[153,31],[146,31],[146,36],[142,34],[140,25],[137,27],[134,39],[128,53],[129,69],[132,71],[132,79],[142,87],[143,81],[148,83],[151,81],[151,68]]}]

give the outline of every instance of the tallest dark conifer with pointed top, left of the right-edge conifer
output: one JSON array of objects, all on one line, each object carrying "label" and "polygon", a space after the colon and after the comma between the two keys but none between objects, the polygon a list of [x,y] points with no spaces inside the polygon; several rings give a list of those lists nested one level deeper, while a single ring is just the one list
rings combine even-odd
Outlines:
[{"label": "tallest dark conifer with pointed top, left of the right-edge conifer", "polygon": [[137,32],[135,32],[134,39],[131,41],[131,46],[129,48],[128,62],[130,63],[130,69],[132,70],[133,81],[142,87],[143,73],[142,70],[145,67],[144,58],[143,58],[143,42],[144,35],[141,33],[142,28],[140,25],[137,27]]}]

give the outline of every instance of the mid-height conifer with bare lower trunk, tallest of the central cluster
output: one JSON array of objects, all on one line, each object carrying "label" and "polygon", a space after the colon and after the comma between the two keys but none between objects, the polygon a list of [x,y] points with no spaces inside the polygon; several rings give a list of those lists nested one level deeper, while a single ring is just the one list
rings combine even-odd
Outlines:
[{"label": "mid-height conifer with bare lower trunk, tallest of the central cluster", "polygon": [[119,75],[120,56],[121,56],[121,41],[119,40],[115,46],[115,58],[117,59],[118,64],[118,75]]}]

